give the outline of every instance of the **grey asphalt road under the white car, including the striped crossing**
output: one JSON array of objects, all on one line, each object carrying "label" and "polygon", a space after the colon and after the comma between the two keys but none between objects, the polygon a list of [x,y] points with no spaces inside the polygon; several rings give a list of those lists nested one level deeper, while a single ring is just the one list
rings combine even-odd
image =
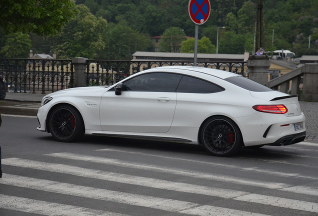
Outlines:
[{"label": "grey asphalt road under the white car, including the striped crossing", "polygon": [[317,142],[215,157],[199,145],[85,135],[2,116],[0,215],[317,215]]}]

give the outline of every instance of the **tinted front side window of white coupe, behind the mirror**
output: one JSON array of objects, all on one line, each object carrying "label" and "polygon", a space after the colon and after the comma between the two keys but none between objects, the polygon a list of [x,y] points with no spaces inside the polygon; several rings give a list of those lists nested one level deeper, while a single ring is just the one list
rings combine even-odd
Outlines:
[{"label": "tinted front side window of white coupe, behind the mirror", "polygon": [[174,73],[145,73],[123,82],[123,90],[175,92],[181,77],[182,75]]}]

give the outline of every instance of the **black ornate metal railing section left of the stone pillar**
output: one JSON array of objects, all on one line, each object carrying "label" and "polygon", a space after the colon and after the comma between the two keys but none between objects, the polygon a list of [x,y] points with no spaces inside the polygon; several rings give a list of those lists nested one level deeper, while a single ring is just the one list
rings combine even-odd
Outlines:
[{"label": "black ornate metal railing section left of the stone pillar", "polygon": [[73,87],[74,71],[71,60],[0,58],[0,76],[7,91],[44,94]]}]

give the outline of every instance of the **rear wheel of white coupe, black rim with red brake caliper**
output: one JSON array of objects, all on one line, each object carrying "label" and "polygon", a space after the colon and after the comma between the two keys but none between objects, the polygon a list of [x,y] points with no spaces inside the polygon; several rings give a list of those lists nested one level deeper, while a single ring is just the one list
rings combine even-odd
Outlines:
[{"label": "rear wheel of white coupe, black rim with red brake caliper", "polygon": [[215,156],[236,154],[242,146],[242,136],[238,126],[225,116],[207,119],[200,130],[200,142]]}]

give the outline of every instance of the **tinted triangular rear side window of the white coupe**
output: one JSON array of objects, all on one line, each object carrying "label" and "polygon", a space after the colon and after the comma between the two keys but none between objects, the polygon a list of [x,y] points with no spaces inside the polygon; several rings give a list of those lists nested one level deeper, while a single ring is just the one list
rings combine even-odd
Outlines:
[{"label": "tinted triangular rear side window of the white coupe", "polygon": [[211,82],[183,75],[176,92],[181,93],[215,93],[225,90]]}]

